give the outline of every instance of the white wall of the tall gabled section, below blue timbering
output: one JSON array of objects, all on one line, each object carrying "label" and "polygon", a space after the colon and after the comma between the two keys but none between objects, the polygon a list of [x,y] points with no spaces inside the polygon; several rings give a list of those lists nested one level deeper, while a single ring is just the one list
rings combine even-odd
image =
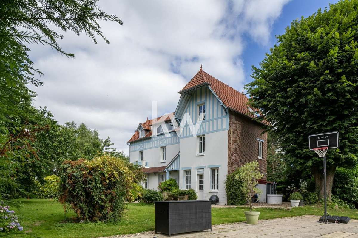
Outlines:
[{"label": "white wall of the tall gabled section, below blue timbering", "polygon": [[[227,204],[225,180],[227,176],[228,131],[218,131],[205,135],[205,153],[197,155],[198,137],[180,139],[180,189],[185,189],[185,170],[191,171],[191,188],[198,192],[198,169],[204,169],[203,199],[213,194],[219,197],[219,204]],[[203,168],[204,167],[204,168]],[[211,189],[211,167],[219,169],[218,190]]]}]

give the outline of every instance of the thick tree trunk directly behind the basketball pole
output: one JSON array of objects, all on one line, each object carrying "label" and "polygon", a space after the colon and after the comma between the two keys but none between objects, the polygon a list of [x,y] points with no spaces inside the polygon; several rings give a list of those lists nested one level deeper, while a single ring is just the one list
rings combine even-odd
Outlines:
[{"label": "thick tree trunk directly behind the basketball pole", "polygon": [[[327,192],[327,199],[331,199],[332,194],[332,186],[333,186],[333,177],[335,173],[335,166],[327,166],[326,167],[326,192]],[[320,166],[312,166],[312,173],[314,177],[314,181],[316,184],[316,192],[318,193],[319,199],[324,199],[324,178],[323,178],[323,168]]]}]

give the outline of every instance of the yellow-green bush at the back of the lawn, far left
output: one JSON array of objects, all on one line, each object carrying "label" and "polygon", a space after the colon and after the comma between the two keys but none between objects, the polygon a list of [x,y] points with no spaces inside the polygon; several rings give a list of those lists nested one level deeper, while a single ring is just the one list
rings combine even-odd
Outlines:
[{"label": "yellow-green bush at the back of the lawn, far left", "polygon": [[35,182],[36,190],[34,194],[37,198],[55,198],[58,196],[60,188],[60,178],[56,175],[50,175],[45,177],[45,184]]}]

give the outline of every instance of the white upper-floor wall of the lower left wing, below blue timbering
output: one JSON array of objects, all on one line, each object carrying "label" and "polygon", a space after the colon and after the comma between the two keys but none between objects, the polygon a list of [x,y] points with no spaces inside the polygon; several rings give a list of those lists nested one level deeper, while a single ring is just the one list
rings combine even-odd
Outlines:
[{"label": "white upper-floor wall of the lower left wing, below blue timbering", "polygon": [[[149,162],[149,167],[166,166],[179,152],[179,144],[169,145],[166,147],[166,161],[161,161],[161,148],[156,147],[151,149],[145,149],[144,160]],[[130,153],[131,162],[140,161],[140,151],[134,151]],[[158,185],[158,184],[157,184]]]}]

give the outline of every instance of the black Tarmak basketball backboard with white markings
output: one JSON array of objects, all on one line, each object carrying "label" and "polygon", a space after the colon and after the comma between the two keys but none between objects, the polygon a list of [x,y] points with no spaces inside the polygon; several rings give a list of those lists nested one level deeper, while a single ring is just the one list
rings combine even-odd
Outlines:
[{"label": "black Tarmak basketball backboard with white markings", "polygon": [[310,150],[321,147],[338,148],[338,131],[310,135],[308,137]]}]

